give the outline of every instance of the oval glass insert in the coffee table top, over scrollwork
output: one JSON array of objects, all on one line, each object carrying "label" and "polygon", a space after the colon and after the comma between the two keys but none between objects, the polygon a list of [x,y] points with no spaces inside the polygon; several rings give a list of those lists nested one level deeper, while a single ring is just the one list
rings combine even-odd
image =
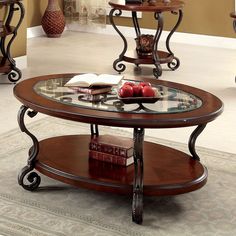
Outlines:
[{"label": "oval glass insert in the coffee table top, over scrollwork", "polygon": [[37,94],[59,103],[113,112],[179,113],[195,110],[202,105],[201,99],[190,93],[158,84],[152,84],[161,94],[155,103],[124,104],[117,97],[117,87],[113,87],[109,93],[96,97],[99,101],[91,102],[86,100],[86,94],[65,87],[65,83],[69,80],[70,78],[56,78],[40,81],[34,86],[34,90]]}]

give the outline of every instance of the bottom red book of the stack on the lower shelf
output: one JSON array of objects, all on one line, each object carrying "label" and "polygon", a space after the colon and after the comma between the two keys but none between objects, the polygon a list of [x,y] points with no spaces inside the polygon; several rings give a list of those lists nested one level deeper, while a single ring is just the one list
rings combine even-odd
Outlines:
[{"label": "bottom red book of the stack on the lower shelf", "polygon": [[112,155],[112,154],[104,153],[104,152],[98,152],[94,150],[89,150],[89,158],[92,158],[98,161],[112,163],[114,165],[120,165],[120,166],[129,166],[134,163],[133,157],[126,158],[126,157]]}]

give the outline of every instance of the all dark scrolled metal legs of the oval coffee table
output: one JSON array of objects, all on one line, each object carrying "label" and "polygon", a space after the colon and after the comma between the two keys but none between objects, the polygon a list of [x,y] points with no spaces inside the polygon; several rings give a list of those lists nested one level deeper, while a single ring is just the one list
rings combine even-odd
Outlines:
[{"label": "all dark scrolled metal legs of the oval coffee table", "polygon": [[[18,183],[24,189],[33,191],[38,188],[41,182],[40,176],[34,172],[36,157],[39,153],[39,142],[37,138],[29,132],[24,123],[25,114],[29,117],[34,117],[37,112],[28,110],[26,106],[22,106],[18,113],[18,123],[22,132],[25,132],[33,142],[33,146],[29,150],[29,157],[27,165],[22,168],[18,175]],[[189,150],[193,159],[200,160],[195,151],[195,142],[198,135],[205,128],[204,125],[199,125],[191,134],[189,139]],[[99,135],[98,125],[91,124],[91,135]],[[132,220],[141,224],[143,221],[143,143],[144,143],[144,129],[134,128],[134,180],[133,180],[133,202],[132,202]],[[28,183],[25,183],[25,182]]]}]

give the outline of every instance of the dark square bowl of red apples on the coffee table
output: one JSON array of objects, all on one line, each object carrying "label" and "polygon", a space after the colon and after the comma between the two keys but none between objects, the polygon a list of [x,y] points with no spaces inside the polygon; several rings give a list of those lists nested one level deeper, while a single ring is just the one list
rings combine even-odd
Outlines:
[{"label": "dark square bowl of red apples on the coffee table", "polygon": [[158,89],[149,82],[126,81],[118,88],[118,98],[126,104],[155,103],[160,97]]}]

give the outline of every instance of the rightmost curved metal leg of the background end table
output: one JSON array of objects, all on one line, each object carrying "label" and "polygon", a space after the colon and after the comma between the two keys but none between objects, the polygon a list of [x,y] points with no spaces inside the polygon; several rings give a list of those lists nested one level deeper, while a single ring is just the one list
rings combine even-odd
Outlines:
[{"label": "rightmost curved metal leg of the background end table", "polygon": [[[175,15],[179,14],[177,23],[175,24],[175,26],[173,27],[173,29],[170,31],[169,35],[166,38],[166,48],[171,55],[174,55],[174,53],[170,49],[170,38],[173,35],[173,33],[176,31],[176,29],[178,28],[178,26],[180,25],[183,19],[183,11],[180,9],[178,12],[172,11],[171,13]],[[179,67],[179,65],[180,65],[180,61],[177,57],[174,57],[172,61],[167,64],[167,66],[171,70],[176,70]]]}]

